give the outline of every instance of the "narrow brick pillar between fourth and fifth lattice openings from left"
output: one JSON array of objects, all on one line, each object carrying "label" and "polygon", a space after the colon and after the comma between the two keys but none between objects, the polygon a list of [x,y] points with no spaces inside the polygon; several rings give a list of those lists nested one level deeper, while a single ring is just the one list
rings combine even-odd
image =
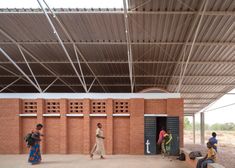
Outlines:
[{"label": "narrow brick pillar between fourth and fifth lattice openings from left", "polygon": [[106,101],[107,122],[106,122],[106,142],[107,154],[113,154],[113,100]]}]

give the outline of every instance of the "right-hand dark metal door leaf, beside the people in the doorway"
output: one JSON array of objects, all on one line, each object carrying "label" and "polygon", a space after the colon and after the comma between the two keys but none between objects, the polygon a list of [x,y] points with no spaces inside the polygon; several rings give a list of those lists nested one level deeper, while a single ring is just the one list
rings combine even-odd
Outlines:
[{"label": "right-hand dark metal door leaf, beside the people in the doorway", "polygon": [[171,155],[179,154],[179,117],[167,117],[167,129],[171,130]]}]

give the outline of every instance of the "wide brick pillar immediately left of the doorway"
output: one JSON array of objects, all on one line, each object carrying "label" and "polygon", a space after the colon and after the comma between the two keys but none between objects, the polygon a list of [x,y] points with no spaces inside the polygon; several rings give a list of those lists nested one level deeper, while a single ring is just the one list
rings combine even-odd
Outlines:
[{"label": "wide brick pillar immediately left of the doorway", "polygon": [[144,154],[144,99],[130,101],[130,154]]}]

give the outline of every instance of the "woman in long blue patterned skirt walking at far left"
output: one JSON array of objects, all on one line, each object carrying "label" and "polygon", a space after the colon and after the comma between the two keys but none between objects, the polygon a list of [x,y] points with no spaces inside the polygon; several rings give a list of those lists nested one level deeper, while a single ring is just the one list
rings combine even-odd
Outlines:
[{"label": "woman in long blue patterned skirt walking at far left", "polygon": [[40,130],[43,128],[42,124],[37,124],[36,129],[32,131],[31,139],[32,143],[29,146],[30,152],[29,152],[29,159],[28,162],[31,164],[39,164],[42,160],[41,152],[40,152],[40,141],[41,136],[43,136],[40,133]]}]

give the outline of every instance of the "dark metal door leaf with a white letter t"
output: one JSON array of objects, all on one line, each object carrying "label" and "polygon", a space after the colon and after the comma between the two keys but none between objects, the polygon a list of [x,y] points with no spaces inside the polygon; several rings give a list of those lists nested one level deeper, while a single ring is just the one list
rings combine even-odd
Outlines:
[{"label": "dark metal door leaf with a white letter t", "polygon": [[156,154],[156,117],[144,117],[144,146],[146,155]]}]

